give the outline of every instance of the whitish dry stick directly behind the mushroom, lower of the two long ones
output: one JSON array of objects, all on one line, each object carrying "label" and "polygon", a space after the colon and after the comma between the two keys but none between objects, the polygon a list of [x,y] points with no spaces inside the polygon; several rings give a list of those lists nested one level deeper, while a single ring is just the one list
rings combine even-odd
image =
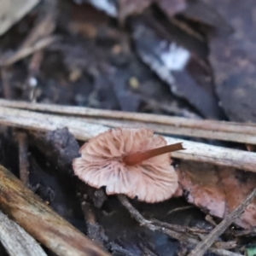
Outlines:
[{"label": "whitish dry stick directly behind the mushroom, lower of the two long ones", "polygon": [[[67,127],[74,137],[82,141],[87,141],[103,131],[108,131],[108,127],[91,124],[84,119],[5,107],[0,107],[0,124],[35,131],[53,131],[57,128]],[[183,143],[183,148],[186,148],[186,150],[173,152],[174,158],[232,166],[256,172],[256,153],[194,143],[172,137],[165,137],[165,139],[168,144]]]}]

